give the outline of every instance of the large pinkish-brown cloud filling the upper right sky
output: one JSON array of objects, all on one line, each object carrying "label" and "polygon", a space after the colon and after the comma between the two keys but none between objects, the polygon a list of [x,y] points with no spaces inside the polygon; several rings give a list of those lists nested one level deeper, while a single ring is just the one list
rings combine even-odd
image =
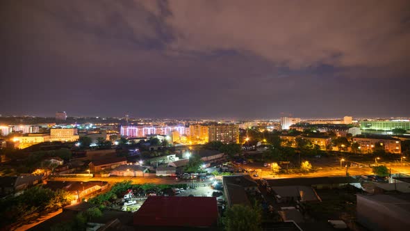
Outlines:
[{"label": "large pinkish-brown cloud filling the upper right sky", "polygon": [[[277,66],[402,65],[409,1],[169,1],[170,49],[234,49]],[[406,21],[407,19],[407,21]]]}]

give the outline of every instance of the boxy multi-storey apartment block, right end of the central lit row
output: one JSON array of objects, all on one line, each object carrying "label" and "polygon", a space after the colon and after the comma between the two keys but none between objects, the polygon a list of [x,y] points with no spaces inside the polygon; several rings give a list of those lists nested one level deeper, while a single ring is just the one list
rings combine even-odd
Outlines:
[{"label": "boxy multi-storey apartment block, right end of the central lit row", "polygon": [[239,143],[238,125],[210,125],[208,126],[208,142]]}]

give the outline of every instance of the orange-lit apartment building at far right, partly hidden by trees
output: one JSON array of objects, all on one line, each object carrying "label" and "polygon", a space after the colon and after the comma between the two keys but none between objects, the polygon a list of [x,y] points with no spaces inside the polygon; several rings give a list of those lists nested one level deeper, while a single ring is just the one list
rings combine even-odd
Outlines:
[{"label": "orange-lit apartment building at far right, partly hidden by trees", "polygon": [[354,143],[359,143],[361,152],[370,153],[375,149],[376,143],[384,147],[386,152],[401,154],[402,147],[400,139],[392,138],[390,136],[355,136],[352,138]]}]

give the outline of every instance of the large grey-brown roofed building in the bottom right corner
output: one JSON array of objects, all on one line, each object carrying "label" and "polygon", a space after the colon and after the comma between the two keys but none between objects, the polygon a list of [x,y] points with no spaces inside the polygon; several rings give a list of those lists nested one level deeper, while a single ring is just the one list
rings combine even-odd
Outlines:
[{"label": "large grey-brown roofed building in the bottom right corner", "polygon": [[409,193],[356,194],[356,200],[357,221],[365,228],[393,231],[410,227]]}]

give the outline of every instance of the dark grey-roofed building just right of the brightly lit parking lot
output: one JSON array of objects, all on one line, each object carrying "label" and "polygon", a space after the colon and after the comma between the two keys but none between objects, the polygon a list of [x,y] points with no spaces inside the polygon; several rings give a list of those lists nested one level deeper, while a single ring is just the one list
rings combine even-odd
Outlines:
[{"label": "dark grey-roofed building just right of the brightly lit parking lot", "polygon": [[259,191],[258,184],[249,175],[224,176],[222,177],[222,184],[228,206],[250,205],[247,194],[254,194]]}]

